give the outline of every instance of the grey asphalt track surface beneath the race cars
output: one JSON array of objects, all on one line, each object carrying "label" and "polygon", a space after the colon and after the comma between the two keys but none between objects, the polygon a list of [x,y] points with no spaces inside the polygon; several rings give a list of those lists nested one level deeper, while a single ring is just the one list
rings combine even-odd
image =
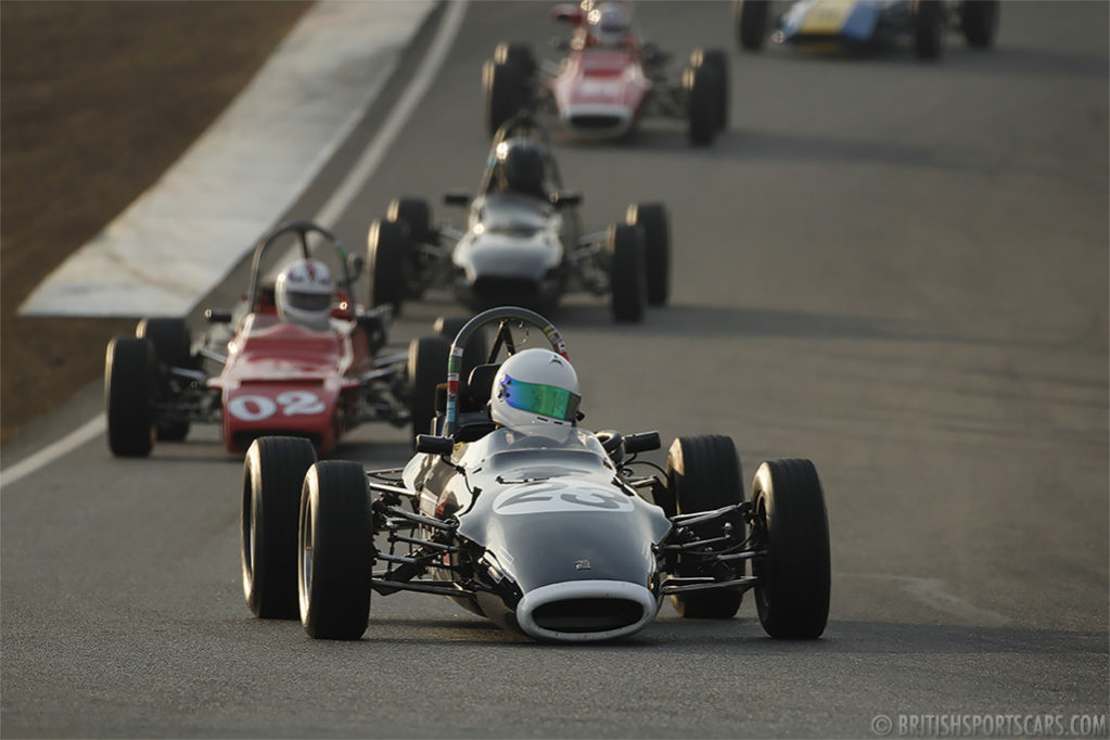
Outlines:
[{"label": "grey asphalt track surface beneath the race cars", "polygon": [[[334,224],[347,243],[394,195],[476,185],[481,62],[501,40],[543,49],[558,30],[545,12],[470,8]],[[644,3],[639,19],[678,59],[730,50],[731,130],[706,150],[672,123],[626,145],[561,140],[587,225],[665,201],[676,265],[673,304],[643,325],[591,297],[553,318],[593,428],[729,434],[748,481],[763,459],[815,460],[825,637],[765,637],[748,598],[735,620],[666,606],[619,643],[544,646],[400,594],[375,596],[362,641],[313,641],[243,604],[241,465],[215,429],[149,460],[97,440],[3,490],[0,733],[875,737],[885,714],[897,737],[909,713],[1104,717],[1108,6],[1007,3],[996,50],[950,39],[939,64],[740,55],[723,2]],[[292,215],[314,213],[380,118]],[[455,311],[431,297],[398,341]],[[91,386],[7,462],[100,404]],[[406,453],[385,426],[340,452]]]}]

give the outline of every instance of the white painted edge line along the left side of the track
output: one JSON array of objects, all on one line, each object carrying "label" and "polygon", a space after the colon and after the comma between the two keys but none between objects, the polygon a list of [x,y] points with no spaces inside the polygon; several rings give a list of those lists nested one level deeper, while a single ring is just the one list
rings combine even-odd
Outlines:
[{"label": "white painted edge line along the left side of the track", "polygon": [[[440,72],[440,68],[443,67],[443,62],[447,58],[447,52],[458,36],[458,29],[462,28],[467,2],[468,0],[452,0],[447,3],[443,20],[440,22],[440,30],[436,32],[435,39],[432,40],[432,45],[428,48],[427,54],[421,62],[412,81],[405,88],[401,99],[393,107],[389,118],[382,123],[377,133],[374,134],[374,139],[363,151],[354,168],[351,169],[340,186],[320,209],[320,213],[315,217],[317,223],[333,223],[336,221],[340,214],[351,204],[351,201],[354,200],[359,187],[377,169],[385,152],[393,144],[397,134],[401,133],[408,118],[416,110],[416,105],[420,104],[421,100],[427,93],[428,88],[432,87],[432,81]],[[0,487],[10,486],[36,470],[50,465],[59,457],[99,437],[105,428],[107,417],[104,414],[97,415],[58,442],[47,445],[10,468],[0,469]]]}]

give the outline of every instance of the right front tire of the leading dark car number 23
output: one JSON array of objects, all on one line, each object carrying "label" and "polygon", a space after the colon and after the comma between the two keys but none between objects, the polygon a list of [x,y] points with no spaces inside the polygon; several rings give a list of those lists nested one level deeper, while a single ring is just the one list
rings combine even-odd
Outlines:
[{"label": "right front tire of the leading dark car number 23", "polygon": [[828,621],[831,571],[817,468],[806,459],[764,463],[751,503],[767,550],[751,562],[759,622],[775,638],[816,639]]}]

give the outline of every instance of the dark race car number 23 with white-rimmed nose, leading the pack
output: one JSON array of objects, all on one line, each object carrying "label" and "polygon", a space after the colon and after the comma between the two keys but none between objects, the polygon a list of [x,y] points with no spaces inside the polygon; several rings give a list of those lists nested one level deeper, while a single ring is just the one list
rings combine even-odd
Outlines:
[{"label": "dark race car number 23 with white-rimmed nose, leading the pack", "polygon": [[[507,357],[464,382],[462,347],[490,325],[488,358]],[[764,463],[745,498],[729,437],[679,437],[665,469],[637,460],[658,433],[581,426],[566,345],[523,308],[463,326],[447,378],[434,434],[403,468],[316,463],[292,437],[255,442],[242,490],[255,615],[299,614],[312,637],[357,640],[372,594],[418,591],[537,640],[581,642],[646,628],[665,597],[683,617],[728,619],[755,589],[767,633],[821,635],[829,535],[813,463]]]}]

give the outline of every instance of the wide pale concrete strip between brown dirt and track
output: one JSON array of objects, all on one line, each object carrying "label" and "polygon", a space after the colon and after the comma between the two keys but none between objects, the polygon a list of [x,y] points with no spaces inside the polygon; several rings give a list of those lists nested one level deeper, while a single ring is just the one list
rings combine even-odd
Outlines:
[{"label": "wide pale concrete strip between brown dirt and track", "polygon": [[435,4],[322,0],[204,135],[20,314],[188,314],[351,133]]}]

